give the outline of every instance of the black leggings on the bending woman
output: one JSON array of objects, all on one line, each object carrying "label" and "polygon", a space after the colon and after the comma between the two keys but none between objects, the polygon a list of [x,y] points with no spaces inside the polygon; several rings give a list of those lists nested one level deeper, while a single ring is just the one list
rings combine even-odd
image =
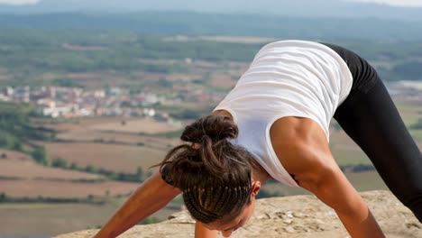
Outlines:
[{"label": "black leggings on the bending woman", "polygon": [[352,90],[334,118],[366,153],[385,184],[422,222],[422,155],[377,72],[357,54],[324,43],[346,62]]}]

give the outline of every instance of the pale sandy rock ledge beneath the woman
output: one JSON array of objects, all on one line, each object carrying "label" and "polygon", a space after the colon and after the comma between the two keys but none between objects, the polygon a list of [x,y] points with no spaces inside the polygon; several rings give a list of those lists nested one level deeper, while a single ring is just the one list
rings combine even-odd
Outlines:
[{"label": "pale sandy rock ledge beneath the woman", "polygon": [[[389,238],[422,237],[422,224],[388,191],[361,193]],[[194,237],[194,221],[187,212],[160,224],[137,225],[122,238]],[[92,237],[97,230],[67,233],[57,238]],[[314,196],[274,197],[258,200],[254,215],[231,237],[349,237],[335,212]]]}]

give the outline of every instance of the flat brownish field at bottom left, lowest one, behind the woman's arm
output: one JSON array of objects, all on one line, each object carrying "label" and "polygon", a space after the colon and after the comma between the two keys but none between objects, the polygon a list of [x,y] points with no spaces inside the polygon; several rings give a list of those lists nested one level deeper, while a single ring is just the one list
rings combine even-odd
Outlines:
[{"label": "flat brownish field at bottom left, lowest one, behind the woman's arm", "polygon": [[[104,205],[2,204],[0,205],[0,236],[51,237],[60,233],[97,228],[115,214],[125,199],[126,197],[111,199]],[[173,204],[164,207],[151,217],[165,220],[179,210],[180,205]],[[16,229],[16,227],[21,229]]]}]

